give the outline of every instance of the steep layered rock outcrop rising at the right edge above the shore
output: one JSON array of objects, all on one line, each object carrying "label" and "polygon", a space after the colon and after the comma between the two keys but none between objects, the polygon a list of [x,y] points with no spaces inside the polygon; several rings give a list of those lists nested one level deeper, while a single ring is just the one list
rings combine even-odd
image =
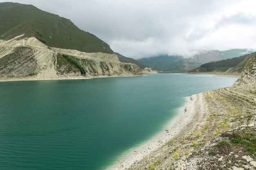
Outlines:
[{"label": "steep layered rock outcrop rising at the right edge above the shore", "polygon": [[256,56],[252,57],[245,65],[242,76],[234,85],[256,85]]}]

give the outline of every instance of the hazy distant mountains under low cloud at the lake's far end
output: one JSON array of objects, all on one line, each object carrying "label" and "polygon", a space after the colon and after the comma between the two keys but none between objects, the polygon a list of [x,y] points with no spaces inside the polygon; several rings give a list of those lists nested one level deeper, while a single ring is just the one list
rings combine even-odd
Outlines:
[{"label": "hazy distant mountains under low cloud at the lake's far end", "polygon": [[208,62],[239,57],[240,55],[245,55],[253,51],[251,49],[211,50],[202,51],[190,58],[160,55],[157,57],[142,58],[138,61],[159,71],[187,72]]}]

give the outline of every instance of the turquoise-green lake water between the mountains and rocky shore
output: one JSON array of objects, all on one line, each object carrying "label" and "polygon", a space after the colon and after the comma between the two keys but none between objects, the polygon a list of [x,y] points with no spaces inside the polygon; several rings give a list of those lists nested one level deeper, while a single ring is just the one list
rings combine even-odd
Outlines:
[{"label": "turquoise-green lake water between the mountains and rocky shore", "polygon": [[0,82],[0,170],[103,170],[162,130],[184,97],[235,80],[153,74]]}]

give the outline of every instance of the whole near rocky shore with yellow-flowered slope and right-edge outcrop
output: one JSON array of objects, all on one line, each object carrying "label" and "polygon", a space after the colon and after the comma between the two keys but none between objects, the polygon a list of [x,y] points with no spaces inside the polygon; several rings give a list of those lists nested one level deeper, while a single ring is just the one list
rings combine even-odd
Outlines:
[{"label": "whole near rocky shore with yellow-flowered slope and right-edge outcrop", "polygon": [[110,169],[255,170],[255,77],[253,57],[234,86],[191,96],[158,144],[149,142],[152,148],[144,146]]}]

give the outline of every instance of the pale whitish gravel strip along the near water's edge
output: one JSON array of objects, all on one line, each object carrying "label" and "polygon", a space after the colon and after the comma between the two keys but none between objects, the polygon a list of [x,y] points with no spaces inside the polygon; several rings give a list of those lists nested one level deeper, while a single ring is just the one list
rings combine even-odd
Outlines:
[{"label": "pale whitish gravel strip along the near water's edge", "polygon": [[[189,97],[185,97],[185,102],[182,106],[177,108],[177,115],[173,119],[169,120],[160,132],[146,140],[139,146],[126,150],[121,157],[115,161],[111,166],[104,168],[104,170],[126,170],[132,166],[132,164],[140,161],[144,157],[150,155],[153,151],[159,149],[168,141],[176,137],[184,128],[192,121],[195,115],[195,102],[203,93],[195,94]],[[191,100],[192,99],[192,100]],[[186,111],[185,111],[186,108]]]}]

